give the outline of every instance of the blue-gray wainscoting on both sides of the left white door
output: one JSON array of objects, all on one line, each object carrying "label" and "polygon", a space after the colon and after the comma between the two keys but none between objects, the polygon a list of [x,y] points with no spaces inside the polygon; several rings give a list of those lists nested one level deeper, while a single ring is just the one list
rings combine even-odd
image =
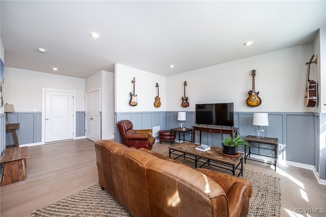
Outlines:
[{"label": "blue-gray wainscoting on both sides of the left white door", "polygon": [[[76,137],[85,136],[85,111],[76,112]],[[14,112],[8,113],[9,123],[19,123],[17,129],[18,144],[42,142],[42,113]],[[6,145],[14,145],[11,132],[6,132]]]}]

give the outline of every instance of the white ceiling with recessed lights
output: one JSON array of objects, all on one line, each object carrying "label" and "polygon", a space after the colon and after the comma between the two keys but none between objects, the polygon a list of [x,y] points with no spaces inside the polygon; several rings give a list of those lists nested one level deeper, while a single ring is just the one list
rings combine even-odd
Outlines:
[{"label": "white ceiling with recessed lights", "polygon": [[5,66],[81,78],[115,63],[169,76],[306,44],[325,26],[326,1],[1,1]]}]

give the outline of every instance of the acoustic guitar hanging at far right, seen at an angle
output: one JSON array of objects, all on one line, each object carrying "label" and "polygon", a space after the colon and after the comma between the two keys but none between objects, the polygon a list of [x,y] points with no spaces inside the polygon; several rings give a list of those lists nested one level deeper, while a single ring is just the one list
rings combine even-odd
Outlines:
[{"label": "acoustic guitar hanging at far right, seen at an angle", "polygon": [[317,103],[317,84],[314,80],[309,79],[309,73],[310,73],[310,64],[315,63],[317,64],[317,59],[312,62],[315,55],[313,55],[309,62],[306,63],[307,65],[307,83],[306,83],[306,93],[305,93],[305,105],[306,107],[315,107]]}]

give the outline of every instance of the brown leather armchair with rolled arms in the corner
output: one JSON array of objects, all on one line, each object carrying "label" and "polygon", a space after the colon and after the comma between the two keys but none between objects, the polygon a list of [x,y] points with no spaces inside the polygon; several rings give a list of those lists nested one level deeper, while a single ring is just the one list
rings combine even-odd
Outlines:
[{"label": "brown leather armchair with rolled arms in the corner", "polygon": [[152,137],[151,129],[132,129],[129,120],[121,120],[117,123],[120,133],[121,143],[128,147],[152,149],[155,138]]}]

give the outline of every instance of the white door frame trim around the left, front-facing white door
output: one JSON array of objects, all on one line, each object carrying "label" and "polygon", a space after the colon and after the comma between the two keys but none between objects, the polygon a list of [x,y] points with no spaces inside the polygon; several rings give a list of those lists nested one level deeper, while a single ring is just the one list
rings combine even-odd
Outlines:
[{"label": "white door frame trim around the left, front-facing white door", "polygon": [[61,89],[51,89],[51,88],[42,88],[42,136],[41,144],[45,144],[45,91],[57,91],[57,92],[66,92],[72,93],[73,95],[73,105],[72,105],[72,114],[73,114],[73,135],[72,139],[76,139],[76,91],[73,90],[61,90]]}]

